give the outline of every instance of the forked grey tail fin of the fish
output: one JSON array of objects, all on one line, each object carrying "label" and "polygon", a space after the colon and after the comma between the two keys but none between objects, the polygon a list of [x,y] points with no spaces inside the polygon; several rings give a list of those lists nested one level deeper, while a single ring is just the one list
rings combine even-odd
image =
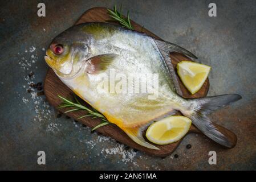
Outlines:
[{"label": "forked grey tail fin of the fish", "polygon": [[233,148],[237,143],[237,137],[231,131],[210,121],[207,117],[221,107],[229,105],[231,102],[238,101],[242,97],[238,94],[226,94],[221,96],[190,99],[192,102],[190,110],[182,112],[192,120],[192,123],[215,142],[227,148]]}]

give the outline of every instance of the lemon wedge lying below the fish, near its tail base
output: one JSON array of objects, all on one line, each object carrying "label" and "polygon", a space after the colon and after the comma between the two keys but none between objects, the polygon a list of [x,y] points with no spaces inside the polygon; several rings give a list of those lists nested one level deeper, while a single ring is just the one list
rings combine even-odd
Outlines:
[{"label": "lemon wedge lying below the fish, near its tail base", "polygon": [[188,133],[192,121],[181,115],[161,119],[148,127],[146,137],[156,144],[177,142]]}]

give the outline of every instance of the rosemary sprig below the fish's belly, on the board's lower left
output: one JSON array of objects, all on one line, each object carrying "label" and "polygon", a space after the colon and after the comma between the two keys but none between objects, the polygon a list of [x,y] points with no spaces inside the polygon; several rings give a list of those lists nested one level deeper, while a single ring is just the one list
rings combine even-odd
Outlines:
[{"label": "rosemary sprig below the fish's belly, on the board's lower left", "polygon": [[107,120],[107,118],[104,117],[103,114],[99,113],[99,111],[97,111],[96,109],[92,108],[89,109],[88,107],[86,106],[83,106],[76,97],[75,98],[75,102],[72,102],[70,100],[67,100],[66,98],[62,97],[62,96],[59,96],[58,97],[62,100],[62,104],[60,104],[59,108],[67,108],[67,107],[73,107],[74,109],[70,109],[70,110],[67,110],[65,113],[69,113],[69,112],[72,112],[72,111],[77,111],[77,110],[86,110],[87,111],[87,114],[86,115],[82,115],[81,117],[79,117],[78,119],[81,119],[81,118],[84,118],[84,117],[92,117],[92,119],[95,119],[95,118],[100,118],[102,123],[100,123],[99,125],[95,126],[92,131],[98,129],[99,127],[101,126],[105,126],[105,125],[108,125],[110,122]]}]

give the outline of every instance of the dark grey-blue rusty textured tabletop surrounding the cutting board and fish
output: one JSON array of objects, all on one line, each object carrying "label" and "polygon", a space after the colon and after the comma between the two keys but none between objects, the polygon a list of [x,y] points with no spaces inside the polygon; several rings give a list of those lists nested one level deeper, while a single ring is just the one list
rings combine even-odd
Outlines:
[{"label": "dark grey-blue rusty textured tabletop surrounding the cutting board and fish", "polygon": [[[46,4],[46,17],[36,15]],[[212,115],[234,131],[237,146],[226,150],[202,135],[188,135],[165,159],[148,156],[112,139],[91,134],[47,104],[30,82],[43,81],[48,69],[43,48],[95,6],[119,1],[0,2],[0,169],[256,169],[256,2],[214,1],[217,17],[208,16],[211,1],[122,1],[131,18],[194,52],[212,66],[209,96],[241,94],[243,99]],[[150,10],[150,11],[149,11]],[[35,50],[34,50],[35,48]],[[27,51],[27,52],[26,52]],[[27,60],[27,61],[26,61]],[[27,74],[34,72],[32,78]],[[187,149],[190,143],[192,148]],[[46,165],[36,163],[39,150]],[[217,165],[208,152],[217,152]],[[174,158],[178,154],[178,158]]]}]

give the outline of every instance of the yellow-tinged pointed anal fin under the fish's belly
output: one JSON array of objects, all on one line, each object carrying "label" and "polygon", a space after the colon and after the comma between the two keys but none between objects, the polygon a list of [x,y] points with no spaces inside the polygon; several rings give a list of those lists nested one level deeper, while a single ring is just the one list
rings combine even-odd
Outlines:
[{"label": "yellow-tinged pointed anal fin under the fish's belly", "polygon": [[160,148],[154,146],[151,143],[148,143],[144,138],[143,138],[143,130],[147,128],[151,122],[147,123],[146,125],[143,126],[136,126],[136,127],[123,127],[121,128],[134,142],[137,144],[140,144],[141,146],[155,149],[155,150],[160,150]]}]

